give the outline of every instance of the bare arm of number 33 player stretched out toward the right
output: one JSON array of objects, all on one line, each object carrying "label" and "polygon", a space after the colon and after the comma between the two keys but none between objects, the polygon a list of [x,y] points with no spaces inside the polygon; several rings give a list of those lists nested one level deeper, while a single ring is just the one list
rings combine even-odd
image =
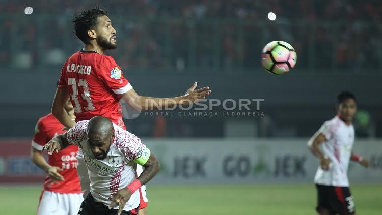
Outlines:
[{"label": "bare arm of number 33 player stretched out toward the right", "polygon": [[177,105],[190,105],[198,100],[205,99],[212,93],[212,90],[206,86],[200,89],[197,82],[192,85],[183,96],[173,98],[153,98],[139,96],[134,89],[122,94],[122,99],[135,110],[156,110],[162,108],[172,108]]}]

